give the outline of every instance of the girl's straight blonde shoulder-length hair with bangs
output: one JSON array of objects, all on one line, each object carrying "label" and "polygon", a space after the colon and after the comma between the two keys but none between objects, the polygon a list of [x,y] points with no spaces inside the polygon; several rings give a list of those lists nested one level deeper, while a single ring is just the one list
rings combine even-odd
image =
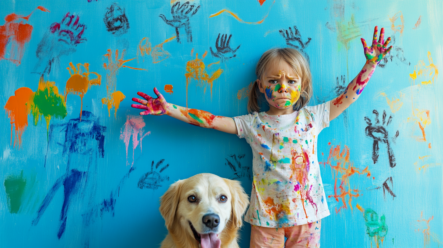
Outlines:
[{"label": "girl's straight blonde shoulder-length hair with bangs", "polygon": [[[258,60],[255,69],[257,79],[263,81],[266,68],[270,63],[276,61],[287,62],[289,66],[291,66],[292,70],[294,70],[294,72],[301,77],[302,84],[300,89],[300,98],[299,100],[297,100],[297,102],[295,102],[293,107],[295,110],[303,108],[307,105],[312,97],[312,76],[306,58],[298,50],[295,50],[293,48],[286,47],[269,49],[264,52],[264,54],[261,55],[260,59]],[[260,112],[260,96],[260,88],[256,80],[254,81],[252,89],[249,92],[248,112]]]}]

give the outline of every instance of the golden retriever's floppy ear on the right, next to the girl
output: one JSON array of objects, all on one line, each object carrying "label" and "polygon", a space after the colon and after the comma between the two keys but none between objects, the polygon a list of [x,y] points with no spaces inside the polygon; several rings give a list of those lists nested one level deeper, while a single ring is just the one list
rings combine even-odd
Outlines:
[{"label": "golden retriever's floppy ear on the right, next to the girl", "polygon": [[239,181],[224,179],[228,184],[232,195],[232,221],[236,227],[240,228],[243,224],[243,214],[245,214],[246,208],[249,205],[249,196],[245,193],[245,190]]}]

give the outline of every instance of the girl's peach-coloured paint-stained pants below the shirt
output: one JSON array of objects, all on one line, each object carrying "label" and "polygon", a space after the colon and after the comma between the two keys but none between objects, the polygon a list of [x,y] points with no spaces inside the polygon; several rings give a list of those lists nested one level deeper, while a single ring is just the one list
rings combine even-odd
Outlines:
[{"label": "girl's peach-coloured paint-stained pants below the shirt", "polygon": [[251,225],[250,248],[320,248],[321,224],[322,220],[282,228]]}]

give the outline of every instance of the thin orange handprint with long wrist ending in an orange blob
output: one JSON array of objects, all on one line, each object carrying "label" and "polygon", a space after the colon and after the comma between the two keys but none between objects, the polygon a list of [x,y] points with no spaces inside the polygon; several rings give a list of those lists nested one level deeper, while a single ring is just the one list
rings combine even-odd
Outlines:
[{"label": "thin orange handprint with long wrist ending in an orange blob", "polygon": [[140,68],[124,66],[123,64],[131,61],[135,58],[123,60],[125,50],[120,54],[120,58],[118,58],[118,49],[115,50],[115,57],[113,59],[113,53],[111,49],[108,49],[108,53],[103,55],[108,57],[108,63],[103,63],[103,67],[105,70],[108,70],[106,73],[106,97],[101,99],[102,104],[106,104],[108,106],[108,113],[111,116],[111,109],[114,107],[114,116],[117,118],[117,109],[120,106],[120,102],[123,101],[125,95],[121,93],[121,91],[117,91],[117,74],[121,67],[126,67],[134,70],[144,70]]}]

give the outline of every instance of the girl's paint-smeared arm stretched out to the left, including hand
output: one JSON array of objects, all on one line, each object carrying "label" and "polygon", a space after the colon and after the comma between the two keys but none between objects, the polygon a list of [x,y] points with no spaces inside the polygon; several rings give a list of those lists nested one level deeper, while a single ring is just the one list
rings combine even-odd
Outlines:
[{"label": "girl's paint-smeared arm stretched out to the left, including hand", "polygon": [[141,103],[141,105],[132,104],[131,107],[144,109],[145,111],[140,112],[140,115],[168,115],[198,127],[213,128],[222,132],[237,134],[237,126],[231,117],[214,116],[203,110],[188,109],[168,103],[157,88],[154,88],[154,93],[157,98],[152,98],[143,92],[137,92],[140,97],[146,100],[134,97],[132,101]]}]

